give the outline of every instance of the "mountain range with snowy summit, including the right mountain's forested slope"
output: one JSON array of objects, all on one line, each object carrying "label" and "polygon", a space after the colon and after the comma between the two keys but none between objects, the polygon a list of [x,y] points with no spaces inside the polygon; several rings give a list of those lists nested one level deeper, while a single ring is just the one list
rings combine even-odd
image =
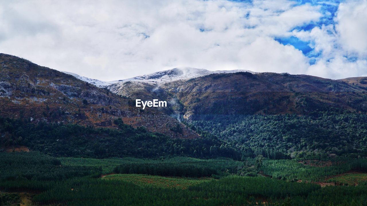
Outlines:
[{"label": "mountain range with snowy summit, including the right mountain's forested slope", "polygon": [[[205,137],[222,144],[222,151],[238,147],[244,154],[268,157],[276,157],[276,152],[365,150],[366,77],[331,80],[185,67],[103,82],[7,54],[0,54],[0,63],[2,117],[110,129],[117,128],[114,122],[121,118],[134,128],[171,138]],[[135,99],[159,99],[168,105],[142,110],[135,107]],[[186,151],[182,144],[180,150]],[[211,147],[190,144],[195,145],[192,151],[203,154]],[[173,146],[170,151],[174,153]]]}]

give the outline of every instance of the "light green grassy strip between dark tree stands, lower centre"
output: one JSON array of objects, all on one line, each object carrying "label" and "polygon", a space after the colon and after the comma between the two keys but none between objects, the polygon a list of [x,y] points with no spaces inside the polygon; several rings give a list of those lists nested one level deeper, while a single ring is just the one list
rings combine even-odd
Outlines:
[{"label": "light green grassy strip between dark tree stands, lower centre", "polygon": [[111,174],[104,178],[112,181],[126,181],[143,187],[148,185],[150,187],[179,189],[187,189],[192,185],[215,181],[212,178],[161,177],[145,174]]}]

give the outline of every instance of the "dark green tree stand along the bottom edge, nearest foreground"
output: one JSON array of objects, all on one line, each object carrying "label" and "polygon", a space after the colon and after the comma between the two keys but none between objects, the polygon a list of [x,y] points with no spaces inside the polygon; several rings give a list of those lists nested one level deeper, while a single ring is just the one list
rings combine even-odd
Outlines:
[{"label": "dark green tree stand along the bottom edge, nearest foreground", "polygon": [[204,182],[187,190],[140,187],[124,181],[80,179],[56,185],[53,190],[33,199],[41,204],[66,202],[69,206],[362,206],[366,200],[366,186],[321,188],[310,183],[238,176]]}]

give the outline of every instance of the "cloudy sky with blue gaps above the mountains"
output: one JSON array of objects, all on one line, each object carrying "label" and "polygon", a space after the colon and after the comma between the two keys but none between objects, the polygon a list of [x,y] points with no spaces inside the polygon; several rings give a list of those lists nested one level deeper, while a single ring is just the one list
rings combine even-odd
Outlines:
[{"label": "cloudy sky with blue gaps above the mountains", "polygon": [[367,0],[3,0],[0,53],[105,81],[182,66],[367,76]]}]

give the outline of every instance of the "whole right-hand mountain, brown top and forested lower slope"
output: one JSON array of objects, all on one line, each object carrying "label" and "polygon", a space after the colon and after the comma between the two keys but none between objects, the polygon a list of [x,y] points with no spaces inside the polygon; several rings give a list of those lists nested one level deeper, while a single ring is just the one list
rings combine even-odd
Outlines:
[{"label": "whole right-hand mountain, brown top and forested lower slope", "polygon": [[279,158],[366,152],[364,79],[237,72],[109,88],[132,99],[168,100],[166,112],[190,128],[245,155]]}]

